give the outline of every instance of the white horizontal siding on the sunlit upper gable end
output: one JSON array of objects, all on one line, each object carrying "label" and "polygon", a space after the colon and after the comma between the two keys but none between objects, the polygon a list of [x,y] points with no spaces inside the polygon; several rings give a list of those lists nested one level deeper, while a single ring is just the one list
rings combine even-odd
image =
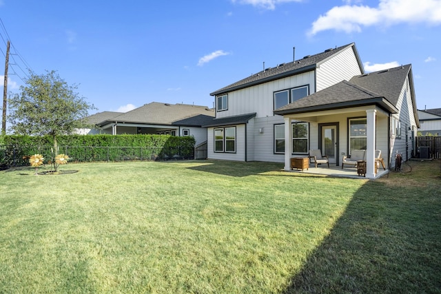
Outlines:
[{"label": "white horizontal siding on the sunlit upper gable end", "polygon": [[317,92],[341,81],[349,81],[353,76],[362,74],[353,47],[323,62],[317,68]]}]

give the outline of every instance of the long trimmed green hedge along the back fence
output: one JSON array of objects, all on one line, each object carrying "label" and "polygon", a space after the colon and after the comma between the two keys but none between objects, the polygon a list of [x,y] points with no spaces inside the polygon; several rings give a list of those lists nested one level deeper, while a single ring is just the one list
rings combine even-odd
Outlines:
[{"label": "long trimmed green hedge along the back fence", "polygon": [[[3,136],[0,163],[27,165],[26,156],[42,154],[52,158],[52,136]],[[71,135],[57,136],[59,154],[73,161],[170,160],[194,155],[193,137],[167,135]]]}]

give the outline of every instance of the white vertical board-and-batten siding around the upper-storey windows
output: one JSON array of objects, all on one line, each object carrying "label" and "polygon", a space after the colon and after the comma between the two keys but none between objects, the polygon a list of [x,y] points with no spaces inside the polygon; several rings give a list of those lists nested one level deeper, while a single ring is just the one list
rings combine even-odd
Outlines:
[{"label": "white vertical board-and-batten siding around the upper-storey windows", "polygon": [[303,85],[309,85],[309,94],[314,93],[316,89],[314,71],[229,92],[228,109],[216,112],[216,117],[223,118],[254,112],[256,112],[256,118],[274,116],[274,92]]}]

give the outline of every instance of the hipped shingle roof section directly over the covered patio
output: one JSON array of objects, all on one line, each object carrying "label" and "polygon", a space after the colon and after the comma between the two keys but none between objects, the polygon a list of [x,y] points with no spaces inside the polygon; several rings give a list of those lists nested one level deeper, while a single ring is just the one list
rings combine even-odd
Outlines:
[{"label": "hipped shingle roof section directly over the covered patio", "polygon": [[274,114],[301,114],[372,104],[378,104],[391,113],[398,112],[395,105],[387,101],[384,96],[358,87],[348,81],[341,81],[298,101],[294,101],[294,103],[280,107],[274,110]]}]

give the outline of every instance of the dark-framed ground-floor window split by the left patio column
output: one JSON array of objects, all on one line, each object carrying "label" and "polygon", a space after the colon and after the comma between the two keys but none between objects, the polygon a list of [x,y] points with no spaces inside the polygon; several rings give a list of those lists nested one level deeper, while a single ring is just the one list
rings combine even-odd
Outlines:
[{"label": "dark-framed ground-floor window split by the left patio column", "polygon": [[[309,124],[292,123],[292,153],[307,154],[309,147]],[[274,153],[285,153],[285,125],[274,125]]]}]

